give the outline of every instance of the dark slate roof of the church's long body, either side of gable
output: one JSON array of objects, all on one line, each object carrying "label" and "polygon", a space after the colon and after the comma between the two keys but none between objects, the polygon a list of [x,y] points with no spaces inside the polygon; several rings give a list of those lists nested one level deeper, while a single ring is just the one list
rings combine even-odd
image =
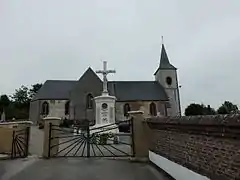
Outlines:
[{"label": "dark slate roof of the church's long body, either side of gable", "polygon": [[[67,100],[70,90],[78,81],[47,80],[34,97],[35,100]],[[156,81],[109,81],[110,95],[114,95],[117,101],[167,101],[167,94]]]}]

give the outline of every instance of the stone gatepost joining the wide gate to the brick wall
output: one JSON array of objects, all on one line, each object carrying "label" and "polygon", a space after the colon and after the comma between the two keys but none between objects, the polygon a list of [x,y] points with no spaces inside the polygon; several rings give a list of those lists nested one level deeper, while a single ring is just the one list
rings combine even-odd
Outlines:
[{"label": "stone gatepost joining the wide gate to the brick wall", "polygon": [[133,149],[135,158],[148,158],[149,152],[149,128],[144,122],[143,111],[128,112],[133,117]]}]

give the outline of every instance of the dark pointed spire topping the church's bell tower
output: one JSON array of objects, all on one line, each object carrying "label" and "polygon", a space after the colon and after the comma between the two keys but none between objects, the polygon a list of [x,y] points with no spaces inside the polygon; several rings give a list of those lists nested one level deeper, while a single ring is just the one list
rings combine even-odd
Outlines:
[{"label": "dark pointed spire topping the church's bell tower", "polygon": [[166,49],[165,49],[165,46],[163,43],[162,43],[162,50],[161,50],[161,55],[160,55],[160,64],[159,64],[157,71],[154,73],[154,75],[156,75],[156,73],[160,69],[171,69],[171,70],[177,69],[169,62],[168,55],[167,55],[167,52],[166,52]]}]

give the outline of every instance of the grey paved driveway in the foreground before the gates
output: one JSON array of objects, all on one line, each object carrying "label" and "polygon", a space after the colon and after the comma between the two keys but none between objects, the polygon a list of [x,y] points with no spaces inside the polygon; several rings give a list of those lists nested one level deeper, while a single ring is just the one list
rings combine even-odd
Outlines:
[{"label": "grey paved driveway in the foreground before the gates", "polygon": [[168,180],[148,164],[126,160],[58,158],[0,162],[1,180]]}]

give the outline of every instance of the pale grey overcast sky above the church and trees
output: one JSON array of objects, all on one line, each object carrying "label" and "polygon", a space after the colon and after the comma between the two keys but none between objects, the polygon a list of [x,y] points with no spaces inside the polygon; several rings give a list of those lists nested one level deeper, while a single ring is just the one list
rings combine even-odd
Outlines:
[{"label": "pale grey overcast sky above the church and trees", "polygon": [[182,106],[240,105],[239,0],[0,0],[0,93],[78,79],[107,60],[110,80],[153,80],[161,36]]}]

